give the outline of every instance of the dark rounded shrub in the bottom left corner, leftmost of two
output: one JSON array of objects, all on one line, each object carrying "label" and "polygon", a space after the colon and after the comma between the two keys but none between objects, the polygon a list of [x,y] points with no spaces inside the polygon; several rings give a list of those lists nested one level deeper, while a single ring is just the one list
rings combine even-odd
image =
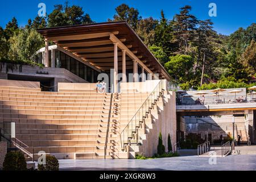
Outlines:
[{"label": "dark rounded shrub in the bottom left corner, leftmost of two", "polygon": [[3,161],[3,171],[26,171],[27,163],[24,155],[18,151],[9,151]]}]

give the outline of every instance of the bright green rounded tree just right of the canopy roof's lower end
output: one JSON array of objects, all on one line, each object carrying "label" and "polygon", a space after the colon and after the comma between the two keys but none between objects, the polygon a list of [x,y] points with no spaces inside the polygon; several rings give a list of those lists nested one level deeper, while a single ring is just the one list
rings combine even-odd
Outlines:
[{"label": "bright green rounded tree just right of the canopy roof's lower end", "polygon": [[186,82],[191,79],[193,59],[188,55],[171,56],[170,61],[164,64],[164,68],[178,82]]}]

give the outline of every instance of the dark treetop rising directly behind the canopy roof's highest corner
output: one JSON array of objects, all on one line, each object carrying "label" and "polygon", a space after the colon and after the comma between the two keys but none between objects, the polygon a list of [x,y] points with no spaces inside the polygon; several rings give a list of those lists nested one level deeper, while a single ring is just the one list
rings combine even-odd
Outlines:
[{"label": "dark treetop rising directly behind the canopy roof's highest corner", "polygon": [[134,9],[134,7],[129,7],[123,3],[122,5],[119,5],[115,8],[115,15],[113,16],[113,20],[109,19],[109,21],[126,20],[127,23],[130,24],[131,28],[136,30],[140,19],[141,16],[139,16],[139,11],[137,9]]}]

